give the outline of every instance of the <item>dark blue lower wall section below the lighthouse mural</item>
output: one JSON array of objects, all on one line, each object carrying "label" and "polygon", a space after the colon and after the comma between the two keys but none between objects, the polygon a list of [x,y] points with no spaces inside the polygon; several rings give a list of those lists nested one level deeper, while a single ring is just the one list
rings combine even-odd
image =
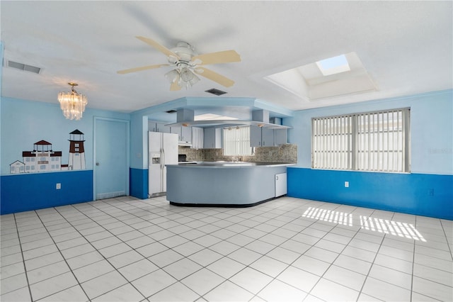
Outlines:
[{"label": "dark blue lower wall section below the lighthouse mural", "polygon": [[1,188],[1,214],[92,201],[93,171],[3,175]]}]

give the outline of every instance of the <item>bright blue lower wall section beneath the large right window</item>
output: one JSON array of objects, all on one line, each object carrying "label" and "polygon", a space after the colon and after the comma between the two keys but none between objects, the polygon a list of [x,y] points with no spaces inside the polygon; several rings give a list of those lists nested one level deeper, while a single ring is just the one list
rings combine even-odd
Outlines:
[{"label": "bright blue lower wall section beneath the large right window", "polygon": [[[288,196],[453,219],[453,176],[287,169]],[[345,181],[350,186],[345,188]]]}]

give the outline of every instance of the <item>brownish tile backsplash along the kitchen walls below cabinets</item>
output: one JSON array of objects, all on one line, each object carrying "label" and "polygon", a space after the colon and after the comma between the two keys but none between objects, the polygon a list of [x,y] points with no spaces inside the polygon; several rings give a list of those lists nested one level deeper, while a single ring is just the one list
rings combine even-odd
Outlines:
[{"label": "brownish tile backsplash along the kitchen walls below cabinets", "polygon": [[[194,162],[231,161],[232,156],[224,156],[223,149],[191,149],[179,146],[179,154],[187,155]],[[236,157],[237,158],[237,157]],[[255,155],[240,157],[243,162],[285,162],[297,163],[297,145],[284,144],[278,147],[255,147]]]}]

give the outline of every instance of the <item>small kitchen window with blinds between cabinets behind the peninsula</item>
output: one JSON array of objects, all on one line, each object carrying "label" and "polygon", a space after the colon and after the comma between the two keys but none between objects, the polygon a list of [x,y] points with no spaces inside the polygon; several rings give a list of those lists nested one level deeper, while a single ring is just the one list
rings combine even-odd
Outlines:
[{"label": "small kitchen window with blinds between cabinets behind the peninsula", "polygon": [[225,128],[223,138],[224,155],[253,155],[253,147],[250,147],[250,126]]}]

